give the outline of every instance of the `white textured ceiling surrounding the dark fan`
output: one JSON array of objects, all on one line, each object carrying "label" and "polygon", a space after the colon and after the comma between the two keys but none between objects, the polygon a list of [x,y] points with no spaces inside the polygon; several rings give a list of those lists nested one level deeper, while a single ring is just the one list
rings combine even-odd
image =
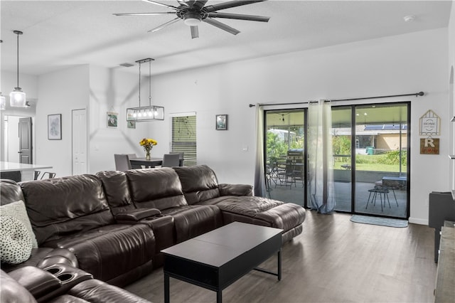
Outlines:
[{"label": "white textured ceiling surrounding the dark fan", "polygon": [[[159,0],[158,0],[159,1]],[[177,6],[177,1],[161,1]],[[208,1],[207,5],[223,1]],[[223,12],[269,16],[268,23],[218,19],[237,28],[230,33],[202,23],[191,39],[183,21],[155,33],[164,16],[113,16],[113,13],[168,11],[144,1],[1,0],[1,70],[40,75],[70,65],[120,67],[154,58],[152,74],[321,48],[340,43],[446,27],[451,1],[265,1]],[[412,22],[404,16],[414,15]],[[424,41],[422,42],[424,43]]]}]

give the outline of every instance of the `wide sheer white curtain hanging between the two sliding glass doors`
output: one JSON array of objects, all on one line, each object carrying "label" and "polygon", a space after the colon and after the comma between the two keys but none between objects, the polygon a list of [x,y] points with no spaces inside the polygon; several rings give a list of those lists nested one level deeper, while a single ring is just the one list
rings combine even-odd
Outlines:
[{"label": "wide sheer white curtain hanging between the two sliding glass doors", "polygon": [[311,208],[319,213],[331,213],[335,208],[331,122],[329,102],[309,102],[309,197]]}]

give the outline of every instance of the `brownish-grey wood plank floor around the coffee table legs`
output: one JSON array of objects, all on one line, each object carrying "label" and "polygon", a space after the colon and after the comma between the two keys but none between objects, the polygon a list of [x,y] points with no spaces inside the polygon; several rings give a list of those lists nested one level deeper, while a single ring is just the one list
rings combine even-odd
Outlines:
[{"label": "brownish-grey wood plank floor around the coffee table legs", "polygon": [[[350,222],[307,211],[304,232],[282,249],[282,280],[252,271],[223,290],[223,302],[433,302],[434,230]],[[276,256],[262,267],[276,269]],[[162,269],[126,287],[164,302]],[[216,302],[215,292],[171,278],[171,302]]]}]

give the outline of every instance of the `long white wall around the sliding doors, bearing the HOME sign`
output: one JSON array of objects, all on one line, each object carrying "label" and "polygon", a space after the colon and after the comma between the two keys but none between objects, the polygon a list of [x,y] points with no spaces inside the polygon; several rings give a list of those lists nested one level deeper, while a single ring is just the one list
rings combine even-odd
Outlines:
[{"label": "long white wall around the sliding doors, bearing the HOME sign", "polygon": [[[448,190],[447,34],[442,28],[159,75],[152,95],[166,112],[197,112],[199,164],[220,182],[253,184],[255,109],[248,104],[423,90],[424,97],[393,100],[412,102],[410,220],[427,223],[429,192]],[[430,109],[442,118],[441,154],[420,155],[419,117]],[[227,132],[215,131],[215,114],[229,115]],[[163,142],[168,132],[166,125],[151,134]]]}]

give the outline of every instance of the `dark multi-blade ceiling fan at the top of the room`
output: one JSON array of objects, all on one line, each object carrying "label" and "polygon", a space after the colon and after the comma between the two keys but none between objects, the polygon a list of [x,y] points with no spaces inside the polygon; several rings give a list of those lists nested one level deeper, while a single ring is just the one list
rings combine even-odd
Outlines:
[{"label": "dark multi-blade ceiling fan at the top of the room", "polygon": [[253,4],[256,2],[262,2],[267,0],[259,0],[259,1],[228,1],[223,2],[220,4],[213,4],[210,6],[205,6],[207,0],[177,0],[179,6],[172,6],[168,4],[162,4],[160,2],[152,1],[152,0],[142,0],[144,2],[148,2],[151,4],[156,4],[159,6],[167,7],[168,9],[172,9],[173,11],[166,11],[161,13],[132,13],[132,14],[114,14],[115,16],[153,16],[153,15],[166,15],[166,14],[176,14],[176,18],[171,21],[168,21],[161,26],[156,28],[152,28],[148,32],[155,32],[159,31],[161,28],[165,28],[177,21],[183,20],[183,22],[191,26],[191,38],[198,38],[199,31],[198,25],[200,22],[208,23],[212,26],[216,26],[224,31],[228,31],[228,33],[232,33],[233,35],[237,35],[240,31],[237,29],[232,28],[225,23],[221,23],[220,21],[215,20],[214,18],[227,18],[227,19],[237,19],[237,20],[247,20],[247,21],[259,21],[259,22],[268,22],[270,17],[264,16],[253,16],[253,15],[243,15],[243,14],[230,14],[230,13],[219,13],[218,11],[222,9],[230,9],[236,6],[243,6],[247,4]]}]

